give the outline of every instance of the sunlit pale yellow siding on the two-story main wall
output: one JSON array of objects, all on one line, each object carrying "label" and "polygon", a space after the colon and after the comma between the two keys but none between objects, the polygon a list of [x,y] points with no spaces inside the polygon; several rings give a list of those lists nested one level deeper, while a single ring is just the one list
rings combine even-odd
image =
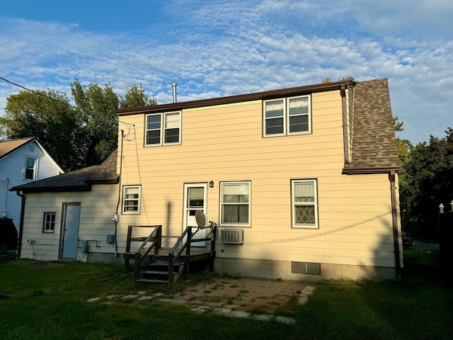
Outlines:
[{"label": "sunlit pale yellow siding on the two-story main wall", "polygon": [[[217,257],[394,266],[388,175],[342,174],[340,91],[312,94],[311,110],[311,133],[263,137],[261,101],[193,108],[182,113],[181,145],[152,148],[143,147],[145,114],[122,115],[136,130],[124,140],[122,185],[141,184],[142,202],[139,215],[120,216],[119,246],[132,222],[180,234],[184,183],[214,181],[207,220],[219,223],[219,182],[251,181],[244,243],[218,239]],[[292,179],[316,179],[319,228],[292,227]]]}]

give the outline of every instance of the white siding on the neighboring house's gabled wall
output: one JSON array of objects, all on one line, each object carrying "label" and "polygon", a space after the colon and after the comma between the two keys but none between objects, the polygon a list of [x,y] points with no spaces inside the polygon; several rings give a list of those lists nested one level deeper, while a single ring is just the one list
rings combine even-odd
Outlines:
[{"label": "white siding on the neighboring house's gabled wall", "polygon": [[21,197],[9,189],[13,186],[30,183],[31,180],[25,179],[27,157],[36,159],[35,181],[57,176],[63,172],[35,140],[0,159],[0,216],[13,219],[17,229],[21,219]]}]

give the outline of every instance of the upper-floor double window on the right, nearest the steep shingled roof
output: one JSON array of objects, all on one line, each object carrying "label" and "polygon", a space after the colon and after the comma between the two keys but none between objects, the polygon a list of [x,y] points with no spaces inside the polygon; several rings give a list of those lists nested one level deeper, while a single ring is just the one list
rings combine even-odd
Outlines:
[{"label": "upper-floor double window on the right, nearest the steep shingled roof", "polygon": [[265,137],[311,132],[310,96],[264,101],[263,130]]}]

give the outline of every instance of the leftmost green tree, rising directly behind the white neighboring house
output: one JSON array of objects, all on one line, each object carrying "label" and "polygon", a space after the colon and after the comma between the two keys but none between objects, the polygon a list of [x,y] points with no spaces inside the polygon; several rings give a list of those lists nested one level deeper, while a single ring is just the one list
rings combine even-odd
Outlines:
[{"label": "leftmost green tree, rising directly behind the white neighboring house", "polygon": [[0,118],[9,138],[38,137],[62,169],[78,166],[74,139],[79,122],[66,94],[57,91],[21,91],[6,99],[5,117]]}]

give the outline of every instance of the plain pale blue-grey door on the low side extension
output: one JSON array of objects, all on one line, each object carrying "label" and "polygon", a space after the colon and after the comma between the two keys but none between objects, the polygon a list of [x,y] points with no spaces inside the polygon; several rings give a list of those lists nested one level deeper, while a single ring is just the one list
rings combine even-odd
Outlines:
[{"label": "plain pale blue-grey door on the low side extension", "polygon": [[62,258],[76,259],[79,238],[80,204],[63,204]]}]

